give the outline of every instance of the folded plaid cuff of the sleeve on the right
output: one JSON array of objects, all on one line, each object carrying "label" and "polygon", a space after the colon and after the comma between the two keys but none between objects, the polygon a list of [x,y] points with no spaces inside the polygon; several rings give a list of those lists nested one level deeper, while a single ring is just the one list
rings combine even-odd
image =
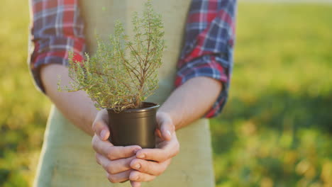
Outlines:
[{"label": "folded plaid cuff of the sleeve on the right", "polygon": [[184,64],[177,72],[175,86],[181,86],[194,77],[210,77],[221,81],[223,89],[211,109],[204,115],[205,118],[213,118],[221,113],[228,98],[228,86],[230,80],[229,61],[219,55],[204,55]]}]

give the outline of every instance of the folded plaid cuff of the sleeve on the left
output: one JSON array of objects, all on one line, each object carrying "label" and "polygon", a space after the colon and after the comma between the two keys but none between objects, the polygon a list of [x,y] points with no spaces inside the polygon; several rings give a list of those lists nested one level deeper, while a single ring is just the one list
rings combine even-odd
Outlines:
[{"label": "folded plaid cuff of the sleeve on the left", "polygon": [[40,68],[46,64],[68,65],[68,54],[74,52],[74,60],[82,62],[85,51],[84,39],[56,37],[33,41],[31,57],[28,60],[35,86],[45,94],[40,79]]}]

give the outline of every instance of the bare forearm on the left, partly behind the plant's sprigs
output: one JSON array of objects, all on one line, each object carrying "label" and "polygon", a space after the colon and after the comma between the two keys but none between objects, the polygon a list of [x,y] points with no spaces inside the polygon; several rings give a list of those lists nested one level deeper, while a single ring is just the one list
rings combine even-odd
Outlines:
[{"label": "bare forearm on the left, partly behind the plant's sprigs", "polygon": [[89,135],[93,135],[92,123],[96,116],[94,103],[84,91],[60,92],[57,91],[58,76],[61,84],[69,85],[68,69],[59,64],[48,64],[40,69],[40,78],[43,81],[45,92],[65,118]]}]

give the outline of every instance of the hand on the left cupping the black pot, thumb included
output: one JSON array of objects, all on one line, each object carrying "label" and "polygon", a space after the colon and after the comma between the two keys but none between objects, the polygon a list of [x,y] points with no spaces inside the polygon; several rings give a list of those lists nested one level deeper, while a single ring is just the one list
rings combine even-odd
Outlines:
[{"label": "hand on the left cupping the black pot, thumb included", "polygon": [[[96,162],[100,164],[107,173],[111,183],[124,182],[129,180],[131,174],[131,162],[135,159],[135,153],[142,149],[138,145],[114,146],[109,142],[109,128],[106,125],[109,117],[106,110],[99,111],[96,115],[92,129],[92,147],[96,152]],[[132,185],[136,185],[132,182]]]}]

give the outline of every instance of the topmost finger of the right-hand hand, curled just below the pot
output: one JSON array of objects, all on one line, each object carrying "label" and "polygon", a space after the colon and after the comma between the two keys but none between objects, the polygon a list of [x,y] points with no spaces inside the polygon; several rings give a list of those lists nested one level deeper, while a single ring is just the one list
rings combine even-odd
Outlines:
[{"label": "topmost finger of the right-hand hand, curled just below the pot", "polygon": [[136,157],[138,159],[153,160],[155,162],[165,162],[167,159],[175,157],[178,153],[179,142],[177,142],[176,137],[173,137],[162,149],[140,149],[136,153]]}]

